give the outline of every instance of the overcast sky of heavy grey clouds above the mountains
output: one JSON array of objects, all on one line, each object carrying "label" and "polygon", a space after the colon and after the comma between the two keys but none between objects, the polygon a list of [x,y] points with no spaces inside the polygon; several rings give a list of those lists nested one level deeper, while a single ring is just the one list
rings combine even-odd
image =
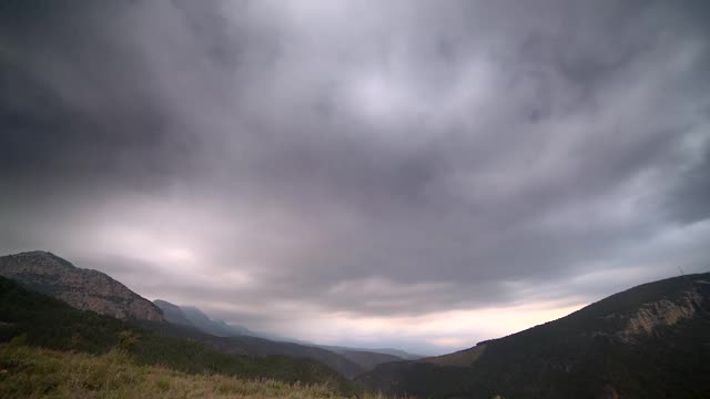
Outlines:
[{"label": "overcast sky of heavy grey clouds above the mountains", "polygon": [[0,254],[444,352],[710,268],[704,1],[0,1]]}]

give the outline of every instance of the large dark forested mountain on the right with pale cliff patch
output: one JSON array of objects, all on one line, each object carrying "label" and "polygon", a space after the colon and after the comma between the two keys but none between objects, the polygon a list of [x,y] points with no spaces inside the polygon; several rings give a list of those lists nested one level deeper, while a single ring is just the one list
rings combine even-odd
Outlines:
[{"label": "large dark forested mountain on the right with pale cliff patch", "polygon": [[710,273],[645,284],[555,321],[356,380],[433,398],[708,398]]}]

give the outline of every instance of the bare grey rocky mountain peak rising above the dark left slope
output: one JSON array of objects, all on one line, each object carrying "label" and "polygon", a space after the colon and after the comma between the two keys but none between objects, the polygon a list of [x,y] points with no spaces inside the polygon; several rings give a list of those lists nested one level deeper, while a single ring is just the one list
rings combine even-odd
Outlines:
[{"label": "bare grey rocky mountain peak rising above the dark left slope", "polygon": [[0,276],[84,310],[120,319],[163,321],[162,310],[105,274],[79,268],[48,252],[0,257]]}]

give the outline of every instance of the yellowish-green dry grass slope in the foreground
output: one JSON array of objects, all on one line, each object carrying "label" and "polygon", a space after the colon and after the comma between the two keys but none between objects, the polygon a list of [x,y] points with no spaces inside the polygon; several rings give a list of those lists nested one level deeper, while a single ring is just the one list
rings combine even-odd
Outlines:
[{"label": "yellowish-green dry grass slope in the foreground", "polygon": [[[341,398],[327,383],[290,385],[221,375],[190,375],[104,355],[0,345],[0,398]],[[364,396],[364,398],[378,398]]]}]

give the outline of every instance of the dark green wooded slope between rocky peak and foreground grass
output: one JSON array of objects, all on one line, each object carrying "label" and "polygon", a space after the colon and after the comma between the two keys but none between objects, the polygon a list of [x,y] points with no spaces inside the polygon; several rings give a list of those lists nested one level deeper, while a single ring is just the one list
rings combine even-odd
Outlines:
[{"label": "dark green wooded slope between rocky peak and foreground grass", "polygon": [[94,355],[120,348],[138,365],[186,374],[325,383],[344,395],[357,392],[343,376],[313,360],[225,355],[199,342],[163,337],[112,317],[74,309],[0,277],[0,342],[13,337],[22,337],[31,346]]}]

